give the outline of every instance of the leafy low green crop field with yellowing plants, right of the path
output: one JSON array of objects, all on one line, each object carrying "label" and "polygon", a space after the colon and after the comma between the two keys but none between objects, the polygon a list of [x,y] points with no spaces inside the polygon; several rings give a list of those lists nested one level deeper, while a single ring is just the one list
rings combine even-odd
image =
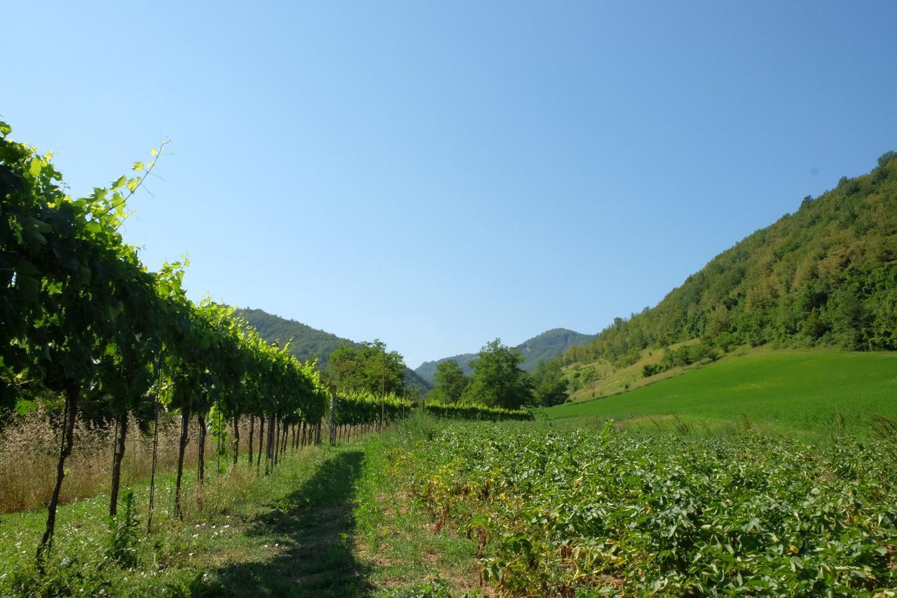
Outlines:
[{"label": "leafy low green crop field with yellowing plants, right of the path", "polygon": [[450,426],[396,448],[433,530],[507,595],[892,595],[897,444]]}]

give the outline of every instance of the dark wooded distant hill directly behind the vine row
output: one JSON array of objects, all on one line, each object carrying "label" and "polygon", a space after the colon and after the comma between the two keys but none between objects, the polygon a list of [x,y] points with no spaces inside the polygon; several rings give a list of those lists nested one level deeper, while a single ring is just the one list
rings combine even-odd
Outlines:
[{"label": "dark wooded distant hill directly behind the vine row", "polygon": [[[337,347],[361,347],[361,343],[354,340],[343,339],[331,332],[311,328],[308,324],[287,320],[264,310],[237,308],[236,315],[248,321],[249,325],[258,330],[258,334],[268,342],[276,340],[282,347],[289,342],[290,353],[299,359],[304,361],[311,356],[317,356],[318,366],[322,370],[327,369],[330,354]],[[421,393],[431,389],[431,384],[409,367],[405,367],[405,384],[418,389]]]}]

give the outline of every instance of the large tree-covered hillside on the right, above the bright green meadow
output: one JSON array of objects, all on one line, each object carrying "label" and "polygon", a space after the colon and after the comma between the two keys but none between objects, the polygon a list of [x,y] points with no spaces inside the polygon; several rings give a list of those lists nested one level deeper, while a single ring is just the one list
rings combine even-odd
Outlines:
[{"label": "large tree-covered hillside on the right, above the bright green meadow", "polygon": [[719,347],[778,343],[897,348],[897,154],[805,198],[796,214],[720,253],[651,309],[617,318],[565,365],[626,361],[646,347],[706,338]]}]

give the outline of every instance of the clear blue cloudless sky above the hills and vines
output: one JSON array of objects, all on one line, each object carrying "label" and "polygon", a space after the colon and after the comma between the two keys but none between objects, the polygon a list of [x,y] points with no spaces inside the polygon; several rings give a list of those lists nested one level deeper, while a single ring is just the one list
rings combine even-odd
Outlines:
[{"label": "clear blue cloudless sky above the hills and vines", "polygon": [[0,14],[0,115],[74,194],[171,140],[151,269],[412,367],[597,332],[897,149],[891,0]]}]

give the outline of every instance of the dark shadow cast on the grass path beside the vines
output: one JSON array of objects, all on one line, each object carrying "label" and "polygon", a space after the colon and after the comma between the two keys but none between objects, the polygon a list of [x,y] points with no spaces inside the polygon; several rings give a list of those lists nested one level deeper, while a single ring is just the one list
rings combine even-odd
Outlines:
[{"label": "dark shadow cast on the grass path beside the vines", "polygon": [[274,558],[220,568],[202,596],[364,596],[365,567],[353,555],[353,485],[364,453],[345,451],[274,510],[257,519],[250,534],[286,544]]}]

